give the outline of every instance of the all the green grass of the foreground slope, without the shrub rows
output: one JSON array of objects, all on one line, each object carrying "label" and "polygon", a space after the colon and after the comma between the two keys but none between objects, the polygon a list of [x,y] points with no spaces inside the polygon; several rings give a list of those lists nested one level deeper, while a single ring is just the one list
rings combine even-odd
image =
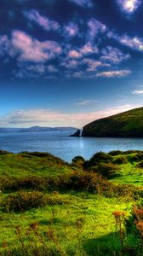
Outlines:
[{"label": "all the green grass of the foreground slope, without the shrub rows", "polygon": [[[142,191],[141,172],[143,171],[137,167],[140,162],[137,161],[139,152],[118,153],[112,156],[112,163],[117,160],[117,157],[122,156],[127,159],[127,162],[118,164],[116,176],[110,179],[110,186],[114,188],[115,184],[115,189],[121,190],[118,184],[123,186],[122,189],[132,189],[130,185],[133,185],[134,193]],[[53,192],[49,189],[36,192],[31,187],[25,186],[18,187],[16,190],[13,187],[12,190],[3,190],[0,193],[0,255],[140,256],[142,254],[139,232],[135,230],[133,222],[129,222],[129,231],[124,222],[122,248],[112,214],[113,212],[125,212],[127,219],[132,218],[133,208],[142,206],[141,194],[138,197],[132,193],[129,195],[121,193],[117,196],[110,192],[103,195],[100,193],[100,188],[96,189],[96,192],[91,189],[91,193],[88,183],[91,183],[92,179],[87,180],[85,187],[79,186],[78,188],[80,178],[82,182],[83,177],[88,179],[88,173],[92,172],[91,165],[89,165],[89,170],[88,168],[86,170],[88,172],[85,172],[83,164],[83,161],[77,160],[73,165],[69,165],[50,154],[0,154],[0,177],[6,177],[8,181],[12,178],[16,183],[22,178],[37,177],[40,188],[40,183],[43,182],[40,177],[52,177],[57,181],[60,176],[68,180],[72,175],[74,184],[74,186],[68,187],[67,185],[61,189],[60,183],[57,183],[58,191]],[[80,175],[79,180],[77,180],[76,173]],[[107,186],[110,184],[104,179],[103,183]],[[100,184],[102,184],[102,179],[100,179]],[[127,187],[124,187],[124,184]],[[97,183],[97,188],[98,186],[100,186],[99,183]],[[7,212],[3,207],[3,202],[7,202],[9,196],[15,197],[19,193],[22,193],[26,206],[18,210],[13,207],[13,211]],[[34,202],[33,199],[36,197],[32,195],[43,195],[46,201],[43,205],[40,202],[39,206],[37,204],[37,207],[33,208],[31,202]],[[14,203],[15,201],[13,205]],[[17,203],[21,203],[21,199]]]}]

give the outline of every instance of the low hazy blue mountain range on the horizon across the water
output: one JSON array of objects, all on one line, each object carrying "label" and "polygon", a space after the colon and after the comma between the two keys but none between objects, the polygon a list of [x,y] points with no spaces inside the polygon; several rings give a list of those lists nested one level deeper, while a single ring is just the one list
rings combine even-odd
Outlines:
[{"label": "low hazy blue mountain range on the horizon across the water", "polygon": [[29,128],[0,128],[0,133],[37,132],[37,131],[77,131],[77,128],[75,127],[41,127],[41,126],[32,126]]}]

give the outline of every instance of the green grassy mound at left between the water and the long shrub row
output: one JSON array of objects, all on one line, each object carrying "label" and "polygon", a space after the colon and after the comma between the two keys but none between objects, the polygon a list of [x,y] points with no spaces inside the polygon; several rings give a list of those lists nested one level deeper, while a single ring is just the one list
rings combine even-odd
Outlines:
[{"label": "green grassy mound at left between the water and the long shrub row", "polygon": [[37,157],[34,154],[0,155],[1,177],[49,177],[72,171],[66,163],[50,154]]}]

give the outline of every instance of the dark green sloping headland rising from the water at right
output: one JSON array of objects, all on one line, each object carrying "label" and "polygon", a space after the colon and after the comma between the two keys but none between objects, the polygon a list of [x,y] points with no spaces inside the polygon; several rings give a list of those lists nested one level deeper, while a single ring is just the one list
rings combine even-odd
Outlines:
[{"label": "dark green sloping headland rising from the water at right", "polygon": [[98,119],[83,127],[83,137],[143,137],[143,108]]}]

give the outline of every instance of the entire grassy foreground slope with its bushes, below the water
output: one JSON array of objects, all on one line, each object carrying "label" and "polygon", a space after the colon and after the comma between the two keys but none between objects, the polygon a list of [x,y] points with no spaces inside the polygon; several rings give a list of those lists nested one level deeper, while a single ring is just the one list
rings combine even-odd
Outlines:
[{"label": "entire grassy foreground slope with its bushes, below the water", "polygon": [[1,151],[0,255],[141,256],[142,172],[140,151],[72,164]]}]

